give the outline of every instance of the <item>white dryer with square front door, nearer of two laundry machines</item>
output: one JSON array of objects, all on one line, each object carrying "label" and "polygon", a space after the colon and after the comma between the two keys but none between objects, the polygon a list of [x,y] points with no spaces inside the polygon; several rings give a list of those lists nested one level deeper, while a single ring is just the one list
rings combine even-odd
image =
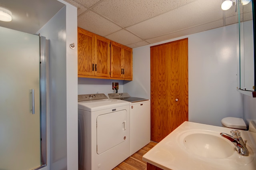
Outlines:
[{"label": "white dryer with square front door, nearer of two laundry machines", "polygon": [[129,156],[129,104],[105,94],[78,95],[79,170],[111,170]]}]

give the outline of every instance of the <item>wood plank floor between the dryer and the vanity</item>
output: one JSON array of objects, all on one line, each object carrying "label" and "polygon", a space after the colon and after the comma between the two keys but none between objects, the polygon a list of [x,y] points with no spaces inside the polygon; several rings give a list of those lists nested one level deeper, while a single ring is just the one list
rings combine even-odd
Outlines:
[{"label": "wood plank floor between the dryer and the vanity", "polygon": [[151,148],[153,148],[157,143],[150,142],[136,153],[132,154],[129,158],[120,163],[113,170],[146,170],[147,162],[142,160],[142,156],[146,154]]}]

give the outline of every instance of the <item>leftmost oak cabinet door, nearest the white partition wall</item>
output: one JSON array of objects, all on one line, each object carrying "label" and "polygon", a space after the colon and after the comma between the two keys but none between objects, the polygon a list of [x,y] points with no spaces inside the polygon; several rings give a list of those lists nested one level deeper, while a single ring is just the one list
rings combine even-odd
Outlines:
[{"label": "leftmost oak cabinet door, nearest the white partition wall", "polygon": [[94,75],[94,34],[78,28],[78,75]]}]

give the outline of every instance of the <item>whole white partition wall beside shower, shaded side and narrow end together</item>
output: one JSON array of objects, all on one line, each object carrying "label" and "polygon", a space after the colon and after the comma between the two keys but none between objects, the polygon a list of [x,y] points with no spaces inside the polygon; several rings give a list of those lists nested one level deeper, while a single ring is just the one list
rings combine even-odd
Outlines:
[{"label": "whole white partition wall beside shower, shaded side and narrow end together", "polygon": [[77,9],[62,8],[38,33],[49,40],[50,113],[46,169],[78,169]]}]

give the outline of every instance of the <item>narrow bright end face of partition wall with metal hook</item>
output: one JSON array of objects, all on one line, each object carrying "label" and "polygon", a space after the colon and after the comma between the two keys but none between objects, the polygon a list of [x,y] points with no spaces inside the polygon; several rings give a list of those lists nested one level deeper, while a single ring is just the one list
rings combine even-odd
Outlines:
[{"label": "narrow bright end face of partition wall with metal hook", "polygon": [[[77,8],[66,4],[66,85],[67,85],[67,164],[78,170],[78,78],[77,78]],[[75,49],[70,44],[75,43]]]}]

